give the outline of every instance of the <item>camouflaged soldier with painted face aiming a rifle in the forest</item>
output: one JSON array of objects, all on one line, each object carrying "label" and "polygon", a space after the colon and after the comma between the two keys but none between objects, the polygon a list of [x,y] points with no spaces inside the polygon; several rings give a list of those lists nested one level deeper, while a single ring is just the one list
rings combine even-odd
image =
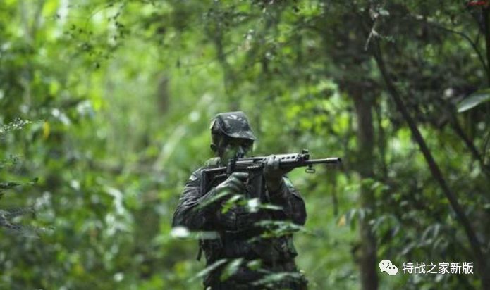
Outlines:
[{"label": "camouflaged soldier with painted face aiming a rifle in the forest", "polygon": [[[223,202],[230,196],[245,194],[247,173],[234,172],[224,182],[201,194],[201,171],[204,168],[226,166],[228,160],[237,153],[238,156],[246,156],[252,149],[255,136],[247,117],[241,111],[219,113],[212,120],[210,129],[211,149],[216,157],[190,175],[173,215],[173,227],[183,226],[190,230],[218,233],[217,239],[200,241],[200,253],[204,251],[206,265],[219,265],[204,278],[204,288],[255,290],[271,286],[274,289],[307,289],[307,281],[295,265],[297,253],[292,234],[254,239],[263,232],[256,225],[256,222],[262,220],[305,224],[305,203],[290,180],[284,176],[289,170],[280,169],[279,160],[274,155],[265,160],[265,196],[269,198],[268,203],[278,206],[280,210],[260,209],[251,212],[245,206],[238,205],[222,210]],[[222,197],[223,194],[229,195]],[[238,270],[228,279],[222,279],[221,273],[226,263],[219,261],[229,262],[237,258],[243,258]],[[250,267],[250,261],[259,261],[259,269]],[[265,275],[277,272],[288,272],[288,275],[284,275],[288,278],[273,285],[260,284],[260,279]]]}]

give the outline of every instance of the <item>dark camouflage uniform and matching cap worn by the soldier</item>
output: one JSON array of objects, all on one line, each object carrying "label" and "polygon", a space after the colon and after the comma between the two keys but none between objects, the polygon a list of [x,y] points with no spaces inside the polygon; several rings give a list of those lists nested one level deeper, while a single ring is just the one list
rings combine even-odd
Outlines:
[{"label": "dark camouflage uniform and matching cap worn by the soldier", "polygon": [[[233,113],[238,115],[238,117],[241,116],[239,114],[241,112]],[[228,116],[225,115],[224,117]],[[221,122],[223,121],[222,119],[215,119],[215,122]],[[242,120],[232,119],[231,124],[228,122],[228,127],[223,126],[224,124],[221,123],[225,130],[228,128],[226,133],[233,134],[235,138],[243,138],[245,136],[247,139],[255,139],[248,124],[245,126]],[[234,124],[233,122],[235,121],[240,122],[240,125]],[[238,129],[233,130],[233,128]],[[247,210],[245,206],[235,205],[223,213],[221,203],[217,206],[200,208],[198,207],[200,203],[212,191],[201,194],[201,172],[204,168],[218,166],[218,162],[219,158],[212,158],[202,168],[192,173],[185,184],[178,208],[173,215],[174,227],[183,226],[191,230],[219,233],[218,239],[200,241],[200,247],[204,251],[207,266],[221,259],[243,258],[243,263],[240,264],[238,270],[225,281],[221,281],[221,272],[226,264],[216,267],[205,277],[205,288],[209,289],[210,287],[213,290],[264,289],[264,285],[257,285],[254,282],[262,279],[265,274],[290,272],[296,274],[295,279],[283,280],[283,282],[276,283],[272,287],[274,289],[306,289],[306,279],[298,272],[294,262],[297,253],[293,245],[292,234],[286,234],[282,237],[257,239],[263,229],[255,225],[255,222],[261,220],[290,221],[296,225],[304,225],[306,220],[305,203],[298,191],[295,190],[290,180],[283,176],[283,182],[281,182],[276,192],[267,192],[265,194],[265,196],[270,196],[267,202],[281,207],[281,210],[260,209],[253,213]],[[247,267],[247,263],[252,260],[261,261],[262,264],[259,270],[252,270],[251,267]]]}]

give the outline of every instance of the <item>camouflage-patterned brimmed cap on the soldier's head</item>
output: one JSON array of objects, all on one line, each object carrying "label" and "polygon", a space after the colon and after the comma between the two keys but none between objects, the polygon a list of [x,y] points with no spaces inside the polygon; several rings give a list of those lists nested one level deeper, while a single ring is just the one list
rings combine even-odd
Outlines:
[{"label": "camouflage-patterned brimmed cap on the soldier's head", "polygon": [[211,121],[212,132],[218,131],[231,138],[243,138],[254,141],[255,135],[242,111],[219,113]]}]

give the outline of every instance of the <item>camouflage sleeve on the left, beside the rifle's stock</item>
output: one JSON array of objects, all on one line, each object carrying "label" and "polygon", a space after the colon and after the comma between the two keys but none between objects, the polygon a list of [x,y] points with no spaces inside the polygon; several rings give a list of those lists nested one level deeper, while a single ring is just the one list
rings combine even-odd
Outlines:
[{"label": "camouflage sleeve on the left, beside the rifle's stock", "polygon": [[188,182],[173,213],[172,227],[182,226],[190,230],[204,230],[209,227],[211,216],[206,208],[197,208],[200,204],[200,170],[190,175]]}]

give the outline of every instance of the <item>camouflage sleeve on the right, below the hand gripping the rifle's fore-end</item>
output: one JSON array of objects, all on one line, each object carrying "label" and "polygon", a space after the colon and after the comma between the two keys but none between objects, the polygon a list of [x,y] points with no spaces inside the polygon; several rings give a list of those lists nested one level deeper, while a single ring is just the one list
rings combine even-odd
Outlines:
[{"label": "camouflage sleeve on the right, below the hand gripping the rifle's fore-end", "polygon": [[269,196],[271,203],[282,208],[282,210],[276,211],[276,217],[280,220],[291,220],[296,225],[305,225],[305,201],[288,177],[283,177],[281,187],[275,192],[269,192]]}]

